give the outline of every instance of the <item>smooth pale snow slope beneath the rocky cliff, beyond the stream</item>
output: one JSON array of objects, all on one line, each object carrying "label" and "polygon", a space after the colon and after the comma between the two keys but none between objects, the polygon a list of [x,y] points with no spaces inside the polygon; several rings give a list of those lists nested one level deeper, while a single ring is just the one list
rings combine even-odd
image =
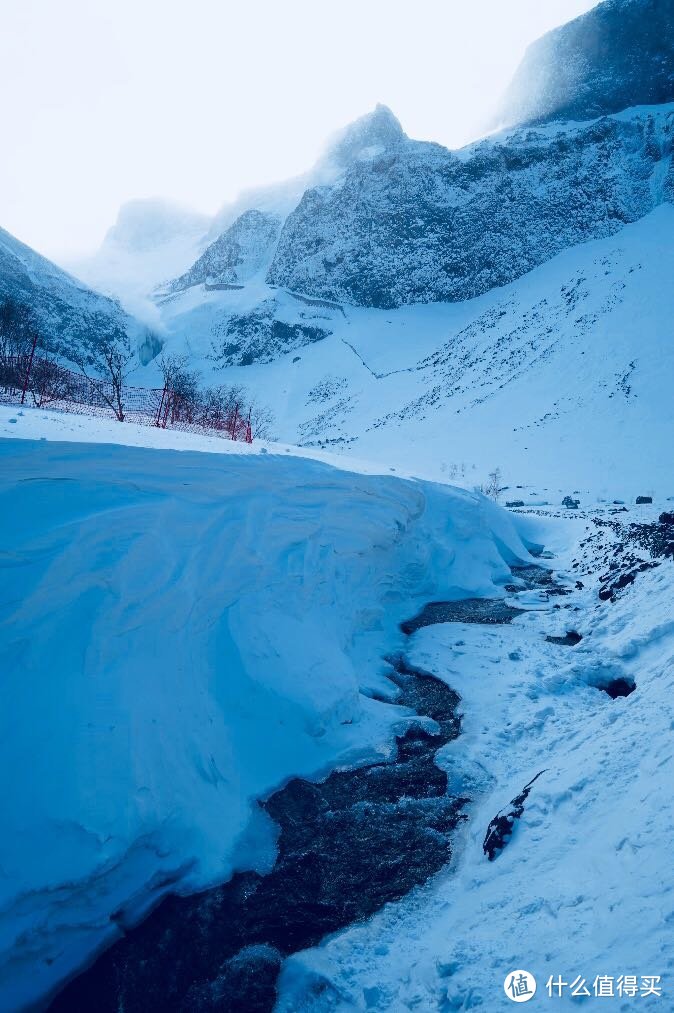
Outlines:
[{"label": "smooth pale snow slope beneath the rocky cliff, beyond the stream", "polygon": [[[553,502],[574,489],[671,495],[672,235],[674,211],[663,206],[453,305],[384,311],[264,286],[193,290],[172,304],[168,345],[213,375],[215,322],[273,299],[286,328],[299,321],[323,338],[215,376],[270,404],[286,442],[436,479],[480,482],[499,466],[508,498],[521,495],[517,484]],[[268,345],[268,358],[278,354]]]}]

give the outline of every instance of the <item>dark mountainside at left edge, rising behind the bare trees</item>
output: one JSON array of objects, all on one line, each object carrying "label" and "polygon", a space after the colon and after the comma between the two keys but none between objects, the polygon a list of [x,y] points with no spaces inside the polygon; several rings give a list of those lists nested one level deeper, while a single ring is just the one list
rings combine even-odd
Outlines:
[{"label": "dark mountainside at left edge, rising behind the bare trees", "polygon": [[83,345],[110,339],[129,339],[146,360],[156,354],[158,345],[147,328],[117,301],[93,292],[0,229],[0,301],[4,299],[26,306],[44,346],[70,361]]}]

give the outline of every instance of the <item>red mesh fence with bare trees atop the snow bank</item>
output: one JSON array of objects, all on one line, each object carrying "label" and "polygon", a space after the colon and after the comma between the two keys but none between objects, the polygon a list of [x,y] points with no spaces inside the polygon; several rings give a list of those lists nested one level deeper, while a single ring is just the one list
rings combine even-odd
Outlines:
[{"label": "red mesh fence with bare trees atop the snow bank", "polygon": [[0,360],[0,403],[27,404],[252,443],[250,409],[236,399],[186,399],[168,386],[116,385],[34,355]]}]

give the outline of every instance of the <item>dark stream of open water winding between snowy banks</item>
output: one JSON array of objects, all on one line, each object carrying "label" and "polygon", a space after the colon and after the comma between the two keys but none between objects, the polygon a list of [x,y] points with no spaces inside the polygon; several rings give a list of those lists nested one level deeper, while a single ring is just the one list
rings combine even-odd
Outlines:
[{"label": "dark stream of open water winding between snowy banks", "polygon": [[[518,590],[547,580],[547,571],[532,569],[535,580],[514,571]],[[401,629],[507,623],[519,611],[500,600],[432,603]],[[447,793],[434,758],[459,734],[459,698],[402,655],[388,661],[396,703],[432,718],[434,729],[411,723],[388,762],[336,771],[320,783],[290,781],[261,803],[280,829],[268,875],[237,873],[200,893],[165,897],[73,979],[51,1010],[267,1013],[286,956],[368,918],[447,864],[468,800]]]}]

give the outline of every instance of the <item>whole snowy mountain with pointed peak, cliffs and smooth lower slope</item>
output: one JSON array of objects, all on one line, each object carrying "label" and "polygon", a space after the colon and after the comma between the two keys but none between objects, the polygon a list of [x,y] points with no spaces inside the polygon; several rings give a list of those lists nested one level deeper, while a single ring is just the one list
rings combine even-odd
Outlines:
[{"label": "whole snowy mountain with pointed peak, cliffs and smooth lower slope", "polygon": [[[544,450],[554,442],[567,472],[592,488],[606,487],[625,454],[653,484],[671,421],[662,334],[674,103],[620,106],[668,95],[670,4],[645,3],[599,5],[534,47],[518,75],[539,51],[585,48],[587,75],[567,92],[580,102],[591,91],[607,114],[588,119],[597,110],[579,105],[579,122],[548,109],[545,123],[451,152],[410,140],[379,105],[304,176],[249,190],[209,222],[163,205],[125,212],[117,248],[164,268],[171,244],[182,250],[152,303],[166,347],[208,379],[245,383],[287,441],[396,466],[411,455],[434,475],[463,465],[482,477],[500,464],[514,481],[545,485],[557,474]],[[653,18],[665,19],[658,59]],[[604,22],[601,80],[626,82],[613,105],[601,97],[600,57],[590,61]],[[150,275],[136,276],[145,295]],[[644,432],[646,450],[630,435]]]}]

